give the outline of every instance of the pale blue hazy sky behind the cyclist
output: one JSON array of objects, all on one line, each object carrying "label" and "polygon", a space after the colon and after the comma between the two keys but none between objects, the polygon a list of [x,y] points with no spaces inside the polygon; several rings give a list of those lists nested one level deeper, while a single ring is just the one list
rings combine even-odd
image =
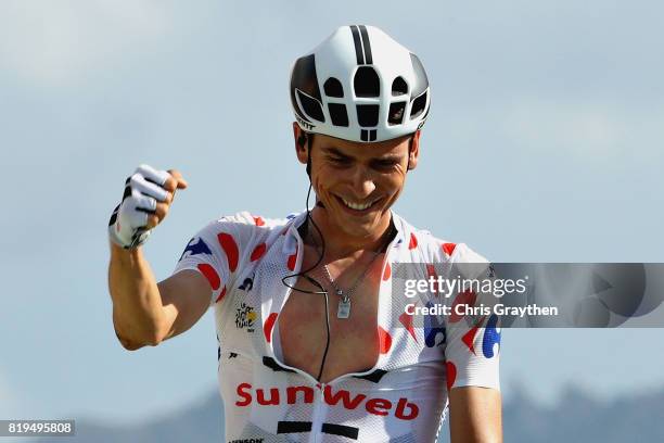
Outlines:
[{"label": "pale blue hazy sky behind the cyclist", "polygon": [[[105,226],[140,163],[190,188],[146,245],[167,277],[201,226],[303,208],[293,60],[376,25],[423,61],[432,113],[397,211],[493,261],[663,262],[655,1],[0,3],[0,418],[136,420],[216,387],[210,313],[117,343]],[[664,385],[664,330],[503,331],[502,381],[542,402]]]}]

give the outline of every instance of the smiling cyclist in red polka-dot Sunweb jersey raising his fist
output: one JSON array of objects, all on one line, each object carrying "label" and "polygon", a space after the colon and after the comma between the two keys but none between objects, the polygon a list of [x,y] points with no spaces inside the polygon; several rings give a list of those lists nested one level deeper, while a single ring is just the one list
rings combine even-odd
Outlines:
[{"label": "smiling cyclist in red polka-dot Sunweb jersey raising his fist", "polygon": [[314,208],[214,220],[156,282],[141,244],[187,181],[140,166],[108,227],[119,341],[157,345],[214,306],[226,441],[430,442],[447,406],[454,443],[501,441],[494,316],[414,325],[393,291],[400,264],[484,261],[391,210],[419,161],[422,63],[379,28],[343,26],[296,60],[290,92]]}]

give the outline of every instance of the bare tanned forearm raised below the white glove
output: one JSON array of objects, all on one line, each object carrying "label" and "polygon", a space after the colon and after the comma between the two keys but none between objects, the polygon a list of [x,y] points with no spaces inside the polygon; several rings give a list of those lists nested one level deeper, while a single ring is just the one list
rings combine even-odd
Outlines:
[{"label": "bare tanned forearm raised below the white glove", "polygon": [[158,344],[164,308],[142,248],[124,250],[111,243],[108,290],[113,300],[113,324],[123,345],[138,349]]}]

